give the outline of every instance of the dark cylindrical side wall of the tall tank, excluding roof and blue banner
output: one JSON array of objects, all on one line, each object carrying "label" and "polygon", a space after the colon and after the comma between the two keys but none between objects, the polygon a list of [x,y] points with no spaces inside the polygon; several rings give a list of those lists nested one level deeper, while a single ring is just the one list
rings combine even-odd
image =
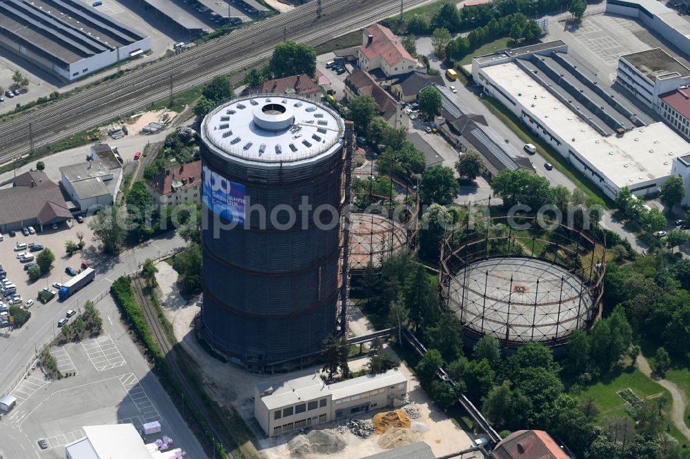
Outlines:
[{"label": "dark cylindrical side wall of the tall tank, excluding roof and blue banner", "polygon": [[[342,121],[340,128],[344,132]],[[203,333],[213,347],[248,369],[295,358],[299,365],[300,356],[318,352],[336,331],[344,245],[339,220],[343,141],[331,156],[285,167],[233,161],[221,153],[207,145],[204,166],[246,187],[248,211],[244,227],[223,228],[225,223],[202,199]],[[303,228],[298,209],[304,196],[311,210],[304,212],[308,225]],[[251,212],[252,205],[266,210],[265,225],[259,212]],[[319,205],[337,210],[332,225],[315,225],[313,210]],[[288,223],[286,212],[276,214],[275,224],[270,219],[286,207],[297,213],[297,223],[288,229],[280,227]]]}]

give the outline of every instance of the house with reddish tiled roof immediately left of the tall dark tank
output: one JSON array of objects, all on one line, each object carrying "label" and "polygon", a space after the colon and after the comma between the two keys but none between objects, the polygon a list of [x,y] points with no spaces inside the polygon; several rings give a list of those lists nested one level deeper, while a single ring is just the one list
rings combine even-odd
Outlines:
[{"label": "house with reddish tiled roof immediately left of the tall dark tank", "polygon": [[156,208],[201,201],[201,161],[166,170],[148,181],[148,190]]}]

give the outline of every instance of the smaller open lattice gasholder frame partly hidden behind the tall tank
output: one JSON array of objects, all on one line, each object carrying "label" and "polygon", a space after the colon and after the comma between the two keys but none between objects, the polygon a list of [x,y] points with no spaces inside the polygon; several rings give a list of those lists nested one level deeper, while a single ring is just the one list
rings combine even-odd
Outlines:
[{"label": "smaller open lattice gasholder frame partly hidden behind the tall tank", "polygon": [[[362,160],[363,154],[359,150],[355,158]],[[353,186],[348,218],[349,265],[351,273],[357,274],[369,265],[380,269],[388,256],[410,247],[417,236],[420,200],[414,175],[410,179],[392,168],[388,174],[377,172],[371,161],[368,168],[360,168],[353,176],[355,182],[363,183]]]}]

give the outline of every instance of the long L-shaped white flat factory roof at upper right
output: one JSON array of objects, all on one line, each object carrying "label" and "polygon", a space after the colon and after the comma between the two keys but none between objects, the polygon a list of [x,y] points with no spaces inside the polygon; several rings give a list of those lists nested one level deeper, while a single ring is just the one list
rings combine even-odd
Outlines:
[{"label": "long L-shaped white flat factory roof at upper right", "polygon": [[482,71],[618,187],[668,176],[673,158],[690,152],[690,144],[663,123],[602,136],[514,63]]}]

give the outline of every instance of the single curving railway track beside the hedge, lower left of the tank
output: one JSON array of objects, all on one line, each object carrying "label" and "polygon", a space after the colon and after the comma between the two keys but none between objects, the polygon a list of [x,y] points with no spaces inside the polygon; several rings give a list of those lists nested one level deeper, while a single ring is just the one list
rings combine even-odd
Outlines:
[{"label": "single curving railway track beside the hedge, lower left of the tank", "polygon": [[204,420],[206,420],[208,428],[210,429],[211,433],[213,433],[213,438],[215,438],[219,443],[221,443],[221,445],[224,446],[226,452],[228,453],[228,456],[234,458],[235,456],[233,456],[233,453],[230,452],[232,451],[232,448],[230,447],[230,442],[226,438],[226,435],[223,432],[219,431],[219,429],[215,426],[208,414],[208,411],[206,411],[206,407],[199,399],[197,393],[187,382],[186,378],[184,377],[184,374],[179,368],[179,365],[177,365],[177,356],[175,354],[175,351],[172,349],[172,346],[170,345],[170,342],[168,341],[165,332],[163,331],[161,323],[158,321],[158,314],[153,305],[151,305],[148,296],[142,294],[142,292],[144,292],[144,283],[141,281],[141,277],[133,276],[132,282],[135,284],[135,292],[137,292],[137,298],[139,300],[139,304],[141,305],[141,309],[144,310],[146,322],[148,322],[148,325],[149,327],[151,327],[151,331],[153,332],[153,338],[161,347],[161,351],[163,352],[166,361],[168,362],[168,365],[170,365],[172,373],[175,374],[175,378],[179,380],[179,383],[184,388],[184,395],[187,397],[188,400],[190,400],[190,402],[197,409],[197,411],[199,411]]}]

